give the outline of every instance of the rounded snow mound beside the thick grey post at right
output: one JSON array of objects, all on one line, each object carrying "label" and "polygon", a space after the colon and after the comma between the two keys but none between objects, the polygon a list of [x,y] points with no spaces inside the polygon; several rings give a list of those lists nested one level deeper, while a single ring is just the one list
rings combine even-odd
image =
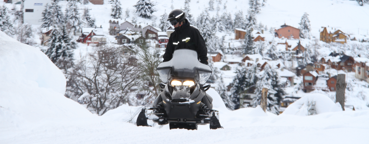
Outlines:
[{"label": "rounded snow mound beside the thick grey post at right", "polygon": [[334,103],[328,96],[323,94],[306,95],[289,105],[282,115],[315,115],[326,112],[342,111],[339,104]]}]

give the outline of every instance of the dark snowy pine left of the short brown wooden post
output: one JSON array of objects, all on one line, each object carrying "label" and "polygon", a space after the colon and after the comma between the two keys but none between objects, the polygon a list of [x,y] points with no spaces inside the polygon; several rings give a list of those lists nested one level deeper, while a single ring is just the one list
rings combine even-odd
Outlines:
[{"label": "dark snowy pine left of the short brown wooden post", "polygon": [[237,75],[231,83],[231,100],[234,109],[239,109],[244,107],[242,99],[245,94],[248,93],[248,89],[255,85],[257,81],[255,74],[259,73],[259,69],[256,64],[254,64],[251,67],[241,67],[241,69],[236,70],[236,73]]}]

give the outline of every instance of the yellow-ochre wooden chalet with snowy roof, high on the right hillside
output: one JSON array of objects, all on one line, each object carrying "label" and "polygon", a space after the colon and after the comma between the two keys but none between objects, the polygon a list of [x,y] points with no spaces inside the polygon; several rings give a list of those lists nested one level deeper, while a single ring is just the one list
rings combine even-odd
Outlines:
[{"label": "yellow-ochre wooden chalet with snowy roof, high on the right hillside", "polygon": [[346,43],[349,38],[344,32],[339,29],[332,27],[321,27],[320,32],[320,41],[330,43],[330,42],[339,42]]}]

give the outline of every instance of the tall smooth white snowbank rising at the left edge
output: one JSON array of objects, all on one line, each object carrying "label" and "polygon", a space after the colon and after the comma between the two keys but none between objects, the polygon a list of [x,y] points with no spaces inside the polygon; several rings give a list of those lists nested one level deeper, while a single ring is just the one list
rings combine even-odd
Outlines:
[{"label": "tall smooth white snowbank rising at the left edge", "polygon": [[63,95],[65,85],[44,53],[0,31],[0,127],[93,116]]}]

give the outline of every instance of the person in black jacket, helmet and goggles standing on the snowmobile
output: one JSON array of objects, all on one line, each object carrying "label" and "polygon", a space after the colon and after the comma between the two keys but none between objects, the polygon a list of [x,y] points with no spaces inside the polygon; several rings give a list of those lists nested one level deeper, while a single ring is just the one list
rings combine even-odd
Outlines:
[{"label": "person in black jacket, helmet and goggles standing on the snowmobile", "polygon": [[204,38],[199,30],[190,26],[190,22],[182,10],[176,9],[169,13],[168,20],[174,27],[174,32],[170,34],[168,45],[163,55],[163,62],[167,62],[173,57],[176,49],[192,49],[197,52],[197,59],[203,64],[208,64],[207,48]]}]

